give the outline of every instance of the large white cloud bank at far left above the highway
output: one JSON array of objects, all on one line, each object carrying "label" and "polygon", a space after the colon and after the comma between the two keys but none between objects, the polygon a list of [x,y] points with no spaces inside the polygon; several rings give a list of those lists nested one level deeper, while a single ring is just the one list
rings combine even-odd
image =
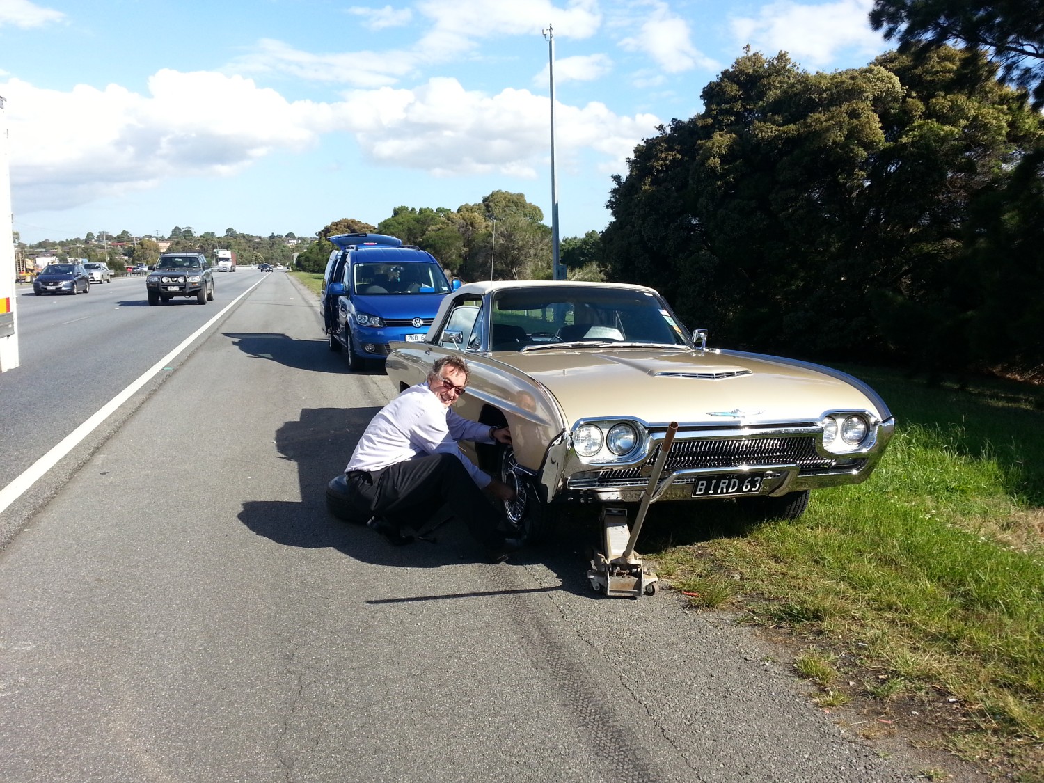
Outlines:
[{"label": "large white cloud bank at far left above the highway", "polygon": [[149,96],[116,85],[65,93],[0,85],[20,210],[65,209],[166,177],[228,175],[276,148],[308,146],[334,124],[329,106],[288,102],[239,76],[162,70],[148,85]]}]

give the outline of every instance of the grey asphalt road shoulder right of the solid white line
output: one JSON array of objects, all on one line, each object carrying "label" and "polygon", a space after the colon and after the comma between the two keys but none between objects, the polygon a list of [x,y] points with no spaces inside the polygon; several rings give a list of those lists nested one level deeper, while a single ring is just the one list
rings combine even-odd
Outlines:
[{"label": "grey asphalt road shoulder right of the solid white line", "polygon": [[917,778],[730,617],[596,598],[577,537],[493,566],[459,525],[393,548],[331,518],[392,389],[321,337],[314,299],[267,276],[20,522],[0,780]]}]

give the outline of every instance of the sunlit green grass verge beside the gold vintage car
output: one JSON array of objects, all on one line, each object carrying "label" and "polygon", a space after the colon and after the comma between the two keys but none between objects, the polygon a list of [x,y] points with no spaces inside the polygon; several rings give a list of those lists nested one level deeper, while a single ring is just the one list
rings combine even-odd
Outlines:
[{"label": "sunlit green grass verge beside the gold vintage car", "polygon": [[830,646],[875,675],[848,678],[861,683],[854,695],[956,703],[976,736],[951,738],[952,746],[1001,756],[1036,779],[1044,775],[1038,395],[1014,382],[854,374],[898,420],[869,481],[813,493],[801,519],[753,528],[728,504],[698,519],[667,512],[673,540],[660,542],[657,564],[664,560],[681,589],[732,580],[734,597],[694,604],[741,609],[808,640],[796,666],[825,689],[820,702],[844,699],[816,669],[836,660],[823,652]]}]

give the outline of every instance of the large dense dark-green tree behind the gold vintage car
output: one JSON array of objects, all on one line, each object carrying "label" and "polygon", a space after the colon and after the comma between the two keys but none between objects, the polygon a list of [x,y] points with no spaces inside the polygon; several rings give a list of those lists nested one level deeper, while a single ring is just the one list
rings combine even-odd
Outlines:
[{"label": "large dense dark-green tree behind the gold vintage car", "polygon": [[959,364],[964,226],[1041,143],[1023,95],[960,75],[987,65],[944,47],[809,74],[749,52],[616,177],[612,279],[740,346]]}]

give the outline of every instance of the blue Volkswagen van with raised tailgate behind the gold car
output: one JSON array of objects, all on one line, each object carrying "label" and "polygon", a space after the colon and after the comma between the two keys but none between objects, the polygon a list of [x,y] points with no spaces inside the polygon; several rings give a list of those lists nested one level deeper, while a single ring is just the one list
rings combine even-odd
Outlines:
[{"label": "blue Volkswagen van with raised tailgate behind the gold car", "polygon": [[383,361],[392,340],[420,341],[451,285],[427,251],[384,234],[338,234],[321,298],[331,351],[348,349],[348,365]]}]

